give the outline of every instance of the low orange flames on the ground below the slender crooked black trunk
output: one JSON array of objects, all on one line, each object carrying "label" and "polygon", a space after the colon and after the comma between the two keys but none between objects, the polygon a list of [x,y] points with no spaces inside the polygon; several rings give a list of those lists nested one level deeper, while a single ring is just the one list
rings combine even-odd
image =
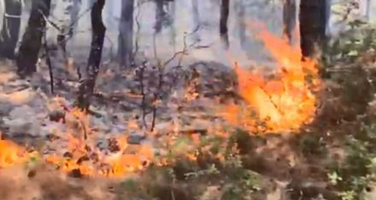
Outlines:
[{"label": "low orange flames on the ground below the slender crooked black trunk", "polygon": [[[57,165],[59,170],[65,173],[78,170],[85,176],[121,177],[143,170],[152,161],[154,153],[150,145],[133,145],[135,151],[127,152],[131,145],[127,143],[126,134],[110,139],[116,148],[114,152],[100,150],[91,133],[88,115],[76,108],[67,114],[73,115],[81,126],[79,130],[69,129],[61,134],[68,135],[69,156],[47,155],[44,158],[46,162]],[[134,124],[131,126],[135,128]]]}]

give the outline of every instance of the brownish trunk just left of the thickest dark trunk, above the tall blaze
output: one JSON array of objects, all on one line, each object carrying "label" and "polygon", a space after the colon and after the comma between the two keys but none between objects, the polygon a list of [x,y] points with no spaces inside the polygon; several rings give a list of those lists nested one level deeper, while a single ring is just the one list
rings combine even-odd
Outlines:
[{"label": "brownish trunk just left of the thickest dark trunk, above the tall blaze", "polygon": [[292,39],[293,39],[293,32],[296,26],[295,0],[284,0],[283,23],[284,23],[284,29],[283,29],[284,35],[287,37],[287,39],[289,40],[291,44]]}]

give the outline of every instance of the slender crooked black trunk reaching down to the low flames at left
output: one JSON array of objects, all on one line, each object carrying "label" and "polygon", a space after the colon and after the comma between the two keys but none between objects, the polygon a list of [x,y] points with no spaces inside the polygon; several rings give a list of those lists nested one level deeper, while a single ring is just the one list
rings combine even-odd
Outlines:
[{"label": "slender crooked black trunk reaching down to the low flames at left", "polygon": [[105,0],[97,0],[91,9],[92,41],[91,50],[86,66],[85,76],[82,77],[79,87],[78,105],[88,111],[90,97],[94,92],[95,81],[99,72],[102,58],[103,42],[105,40],[106,27],[102,20],[102,10]]}]

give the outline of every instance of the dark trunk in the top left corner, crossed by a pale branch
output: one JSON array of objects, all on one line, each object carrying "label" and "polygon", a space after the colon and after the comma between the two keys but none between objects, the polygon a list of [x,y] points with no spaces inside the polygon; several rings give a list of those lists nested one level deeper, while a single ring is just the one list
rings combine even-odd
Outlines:
[{"label": "dark trunk in the top left corner, crossed by a pale branch", "polygon": [[5,0],[5,15],[0,33],[0,57],[15,58],[21,24],[21,0]]}]

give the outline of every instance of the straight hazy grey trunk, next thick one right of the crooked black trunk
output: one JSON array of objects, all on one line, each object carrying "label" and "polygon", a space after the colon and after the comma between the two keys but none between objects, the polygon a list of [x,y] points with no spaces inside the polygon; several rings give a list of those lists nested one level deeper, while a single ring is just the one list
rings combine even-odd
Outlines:
[{"label": "straight hazy grey trunk, next thick one right of the crooked black trunk", "polygon": [[133,61],[133,6],[134,0],[122,0],[119,25],[118,56],[121,66],[130,66]]}]

